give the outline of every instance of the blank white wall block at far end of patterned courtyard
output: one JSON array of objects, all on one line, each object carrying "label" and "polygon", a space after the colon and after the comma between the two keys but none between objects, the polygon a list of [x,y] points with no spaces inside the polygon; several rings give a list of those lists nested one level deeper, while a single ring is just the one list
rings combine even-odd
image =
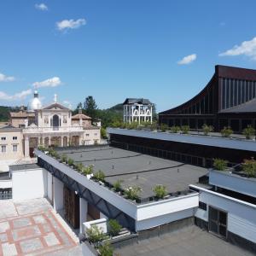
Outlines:
[{"label": "blank white wall block at far end of patterned courtyard", "polygon": [[47,195],[47,171],[41,168],[12,172],[13,200],[28,200]]}]

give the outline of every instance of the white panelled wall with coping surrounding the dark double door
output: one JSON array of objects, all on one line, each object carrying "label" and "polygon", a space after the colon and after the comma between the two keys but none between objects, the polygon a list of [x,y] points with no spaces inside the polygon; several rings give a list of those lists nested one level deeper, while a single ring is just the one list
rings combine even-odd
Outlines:
[{"label": "white panelled wall with coping surrounding the dark double door", "polygon": [[222,195],[201,187],[190,185],[200,190],[199,201],[207,204],[207,211],[198,208],[195,217],[208,222],[208,208],[216,207],[228,212],[227,229],[249,241],[256,242],[256,206],[236,198]]}]

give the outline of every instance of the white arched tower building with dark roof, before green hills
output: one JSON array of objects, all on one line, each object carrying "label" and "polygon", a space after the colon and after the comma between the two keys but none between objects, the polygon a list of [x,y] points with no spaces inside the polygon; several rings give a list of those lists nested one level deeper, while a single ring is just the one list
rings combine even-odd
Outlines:
[{"label": "white arched tower building with dark roof, before green hills", "polygon": [[152,103],[148,99],[127,98],[123,103],[124,123],[152,123]]}]

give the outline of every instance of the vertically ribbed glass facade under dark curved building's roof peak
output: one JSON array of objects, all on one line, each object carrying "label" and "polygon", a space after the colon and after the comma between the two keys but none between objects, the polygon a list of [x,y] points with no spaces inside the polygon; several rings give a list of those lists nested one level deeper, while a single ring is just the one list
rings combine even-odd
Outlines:
[{"label": "vertically ribbed glass facade under dark curved building's roof peak", "polygon": [[221,79],[221,109],[232,108],[256,97],[256,82]]}]

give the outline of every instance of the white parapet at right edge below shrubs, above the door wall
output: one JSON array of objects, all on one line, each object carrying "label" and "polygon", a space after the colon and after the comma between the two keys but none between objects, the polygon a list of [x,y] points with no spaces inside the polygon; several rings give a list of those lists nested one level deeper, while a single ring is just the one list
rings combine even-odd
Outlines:
[{"label": "white parapet at right edge below shrubs, above the door wall", "polygon": [[220,188],[256,197],[256,178],[253,177],[241,177],[230,172],[211,170],[209,172],[209,183]]}]

